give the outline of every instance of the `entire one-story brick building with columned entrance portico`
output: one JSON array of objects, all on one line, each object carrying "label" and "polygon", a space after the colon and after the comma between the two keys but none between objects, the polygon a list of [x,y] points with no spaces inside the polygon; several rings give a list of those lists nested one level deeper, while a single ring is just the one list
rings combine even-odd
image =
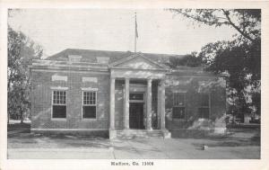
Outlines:
[{"label": "entire one-story brick building with columned entrance portico", "polygon": [[31,130],[165,138],[225,129],[225,81],[178,55],[65,49],[30,66]]}]

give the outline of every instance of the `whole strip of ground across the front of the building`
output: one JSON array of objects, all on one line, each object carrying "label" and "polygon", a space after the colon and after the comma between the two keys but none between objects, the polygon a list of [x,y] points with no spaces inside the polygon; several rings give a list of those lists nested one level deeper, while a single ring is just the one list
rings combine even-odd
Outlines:
[{"label": "whole strip of ground across the front of the building", "polygon": [[[243,142],[244,143],[244,142]],[[206,149],[202,146],[206,145]],[[21,133],[8,138],[8,158],[233,159],[260,158],[258,143],[228,139],[101,139]]]}]

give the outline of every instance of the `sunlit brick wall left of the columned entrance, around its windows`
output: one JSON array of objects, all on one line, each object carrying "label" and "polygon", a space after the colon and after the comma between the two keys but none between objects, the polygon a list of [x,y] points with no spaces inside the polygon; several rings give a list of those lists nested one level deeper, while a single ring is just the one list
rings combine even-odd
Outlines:
[{"label": "sunlit brick wall left of the columned entrance, around its windows", "polygon": [[[52,76],[67,76],[67,81],[52,81]],[[97,82],[84,82],[82,77],[97,77]],[[108,129],[109,75],[89,72],[32,71],[32,124],[33,129]],[[51,120],[52,86],[68,87],[66,91],[66,119]],[[82,87],[98,88],[97,118],[82,119]]]}]

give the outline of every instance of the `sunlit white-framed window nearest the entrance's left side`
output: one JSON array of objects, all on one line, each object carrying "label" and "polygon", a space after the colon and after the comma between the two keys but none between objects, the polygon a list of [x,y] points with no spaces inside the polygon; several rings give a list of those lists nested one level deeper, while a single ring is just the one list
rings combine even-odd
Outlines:
[{"label": "sunlit white-framed window nearest the entrance's left side", "polygon": [[83,92],[82,118],[96,118],[96,92]]}]

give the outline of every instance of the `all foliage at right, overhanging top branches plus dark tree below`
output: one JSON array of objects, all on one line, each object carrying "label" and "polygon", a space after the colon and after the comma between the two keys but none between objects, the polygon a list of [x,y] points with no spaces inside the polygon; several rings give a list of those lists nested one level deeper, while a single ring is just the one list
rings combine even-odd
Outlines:
[{"label": "all foliage at right, overhanging top branches plus dark tree below", "polygon": [[234,40],[206,44],[198,54],[207,70],[223,74],[231,105],[238,112],[255,106],[260,113],[261,10],[259,9],[169,9],[199,25],[230,26],[238,31]]}]

